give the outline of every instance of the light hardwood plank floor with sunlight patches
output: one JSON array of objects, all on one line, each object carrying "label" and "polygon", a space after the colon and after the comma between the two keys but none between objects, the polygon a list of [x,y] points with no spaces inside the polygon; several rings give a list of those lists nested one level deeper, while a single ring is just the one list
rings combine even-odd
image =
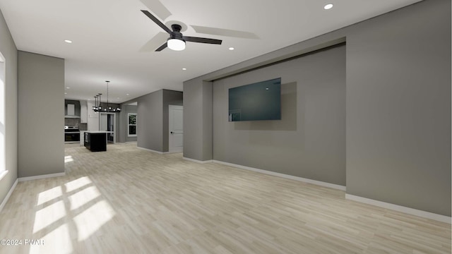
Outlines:
[{"label": "light hardwood plank floor with sunlight patches", "polygon": [[0,253],[451,253],[450,224],[343,191],[133,143],[65,161],[66,176],[18,183],[0,238],[22,245]]}]

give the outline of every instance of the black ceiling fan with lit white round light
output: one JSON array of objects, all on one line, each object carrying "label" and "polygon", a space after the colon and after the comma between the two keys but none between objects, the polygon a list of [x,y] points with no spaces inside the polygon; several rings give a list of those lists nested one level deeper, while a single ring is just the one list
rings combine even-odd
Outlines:
[{"label": "black ceiling fan with lit white round light", "polygon": [[155,49],[156,52],[162,51],[162,49],[165,49],[166,47],[169,47],[169,49],[180,51],[185,49],[185,42],[201,42],[201,43],[208,43],[208,44],[221,44],[222,40],[217,39],[210,39],[210,38],[203,38],[203,37],[190,37],[190,36],[184,36],[182,35],[181,29],[182,26],[178,24],[172,24],[170,30],[166,25],[164,25],[160,20],[155,18],[149,11],[143,11],[141,10],[145,16],[148,16],[151,20],[153,20],[157,25],[160,26],[160,28],[163,28],[167,33],[169,33],[169,38],[167,42],[162,44],[162,46]]}]

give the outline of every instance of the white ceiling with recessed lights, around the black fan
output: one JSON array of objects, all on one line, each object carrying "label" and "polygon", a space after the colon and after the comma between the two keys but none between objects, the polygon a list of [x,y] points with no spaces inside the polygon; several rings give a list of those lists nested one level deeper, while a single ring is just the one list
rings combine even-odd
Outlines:
[{"label": "white ceiling with recessed lights, around the black fan", "polygon": [[[162,88],[182,91],[184,80],[417,1],[0,0],[0,9],[19,50],[66,59],[65,87],[71,87],[66,99],[94,99],[102,92],[103,100],[104,80],[110,80],[109,99],[125,102]],[[326,11],[328,3],[334,6]],[[162,23],[177,20],[186,27],[184,35],[222,44],[187,42],[182,52],[141,52],[163,30],[140,10],[162,16],[161,5],[171,14]],[[200,34],[196,25],[250,32],[258,39]]]}]

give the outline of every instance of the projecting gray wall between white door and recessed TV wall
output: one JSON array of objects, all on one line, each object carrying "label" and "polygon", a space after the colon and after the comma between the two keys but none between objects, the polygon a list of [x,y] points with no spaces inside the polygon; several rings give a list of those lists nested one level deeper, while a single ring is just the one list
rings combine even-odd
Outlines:
[{"label": "projecting gray wall between white door and recessed TV wall", "polygon": [[184,82],[184,157],[212,159],[212,83]]}]

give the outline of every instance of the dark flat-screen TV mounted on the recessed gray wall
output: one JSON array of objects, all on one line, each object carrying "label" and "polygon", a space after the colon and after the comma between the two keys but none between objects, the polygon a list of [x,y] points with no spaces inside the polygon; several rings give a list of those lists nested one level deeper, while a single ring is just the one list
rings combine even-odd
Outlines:
[{"label": "dark flat-screen TV mounted on the recessed gray wall", "polygon": [[281,78],[229,89],[229,121],[281,119]]}]

